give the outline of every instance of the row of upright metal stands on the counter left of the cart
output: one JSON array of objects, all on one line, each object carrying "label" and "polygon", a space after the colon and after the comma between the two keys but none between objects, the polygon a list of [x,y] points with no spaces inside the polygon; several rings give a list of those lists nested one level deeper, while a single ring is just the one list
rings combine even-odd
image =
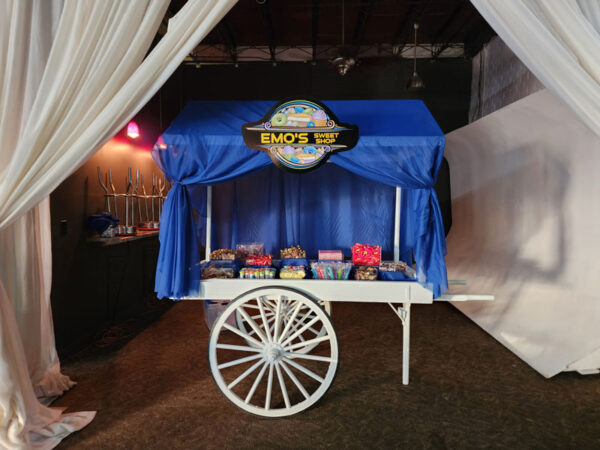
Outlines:
[{"label": "row of upright metal stands on the counter left of the cart", "polygon": [[[106,211],[120,220],[121,217],[119,216],[117,199],[121,197],[125,199],[125,223],[120,223],[115,227],[115,235],[133,236],[136,234],[137,230],[155,231],[159,229],[162,206],[167,198],[167,193],[171,188],[171,185],[167,182],[164,174],[161,178],[155,173],[152,173],[152,189],[148,194],[144,184],[144,176],[140,174],[140,169],[136,169],[134,184],[131,167],[128,167],[127,178],[125,180],[125,192],[118,193],[112,180],[112,169],[108,169],[104,174],[104,177],[102,177],[102,170],[100,167],[97,167],[97,170],[98,183],[104,191],[104,198],[106,200]],[[138,191],[140,189],[140,184],[141,193]],[[138,210],[137,226],[135,217],[136,202]],[[144,203],[144,208],[142,208],[142,202]],[[148,208],[148,203],[150,203],[150,208]],[[145,215],[142,215],[142,211],[145,212]]]}]

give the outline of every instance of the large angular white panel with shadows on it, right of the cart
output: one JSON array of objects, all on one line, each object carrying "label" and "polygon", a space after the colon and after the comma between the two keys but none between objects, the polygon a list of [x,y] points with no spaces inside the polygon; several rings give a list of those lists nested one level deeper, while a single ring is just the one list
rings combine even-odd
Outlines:
[{"label": "large angular white panel with shadows on it, right of the cart", "polygon": [[545,377],[600,368],[599,148],[546,89],[446,135],[454,306]]}]

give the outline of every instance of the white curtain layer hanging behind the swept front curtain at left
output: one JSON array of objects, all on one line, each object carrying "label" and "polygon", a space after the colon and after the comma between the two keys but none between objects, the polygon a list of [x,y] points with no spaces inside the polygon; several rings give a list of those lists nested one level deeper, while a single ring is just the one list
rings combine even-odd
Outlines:
[{"label": "white curtain layer hanging behind the swept front curtain at left", "polygon": [[[2,133],[6,146],[16,145],[22,126],[29,115],[33,100],[50,53],[54,33],[62,11],[62,0],[35,2],[29,7],[21,5],[20,20],[29,17],[30,26],[13,28],[14,39],[28,45],[27,51],[18,55],[24,76],[13,77],[6,96],[10,95],[12,109],[0,121],[2,127],[10,126],[11,133]],[[8,3],[0,5],[2,29],[11,29]],[[13,10],[10,13],[16,13]],[[12,22],[14,24],[14,22]],[[26,22],[24,22],[26,23]],[[35,30],[31,33],[31,30]],[[3,39],[2,49],[8,50]],[[15,55],[16,57],[17,55]],[[3,98],[7,98],[3,95]],[[52,251],[50,248],[50,209],[46,198],[39,206],[28,211],[15,223],[0,230],[0,280],[8,296],[13,299],[15,315],[27,366],[38,398],[47,403],[74,383],[60,373],[60,362],[54,346],[50,287],[52,277]],[[19,254],[18,258],[13,255]]]}]

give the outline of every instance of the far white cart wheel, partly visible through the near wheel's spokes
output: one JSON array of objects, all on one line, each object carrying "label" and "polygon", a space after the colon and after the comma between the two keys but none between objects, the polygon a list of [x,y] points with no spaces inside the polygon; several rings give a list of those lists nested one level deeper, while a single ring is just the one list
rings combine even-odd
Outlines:
[{"label": "far white cart wheel, partly visible through the near wheel's spokes", "polygon": [[[331,317],[331,302],[319,300],[318,303],[321,307],[323,307],[323,309],[325,309],[325,312],[327,312],[327,314]],[[272,333],[273,328],[275,327],[275,315],[276,315],[276,309],[277,309],[277,302],[276,302],[276,299],[274,299],[274,298],[266,298],[263,304],[265,307],[265,316],[267,318],[267,325],[269,326],[269,331]],[[291,319],[293,309],[294,309],[293,304],[287,304],[284,307],[284,309],[283,309],[283,324],[284,324],[284,326],[287,325],[288,321]],[[290,326],[292,330],[300,329],[306,322],[310,321],[314,317],[312,314],[306,314],[307,312],[308,312],[308,309],[306,306],[302,306],[300,308],[299,313],[294,317],[294,323]],[[258,311],[254,311],[254,314],[251,314],[250,317],[252,319],[254,319],[254,321],[257,322],[257,325],[259,326],[261,331],[263,331],[263,333],[264,333],[263,324],[262,324],[262,321],[260,320],[260,317],[261,317],[260,313]],[[237,323],[237,326],[241,331],[243,331],[244,333],[248,333],[248,335],[256,338],[256,331],[252,329],[252,327],[248,324],[246,319],[244,319],[244,317],[237,310],[235,312],[235,322]],[[324,327],[311,326],[311,327],[307,328],[306,334],[300,334],[300,336],[298,336],[298,339],[300,341],[304,341],[308,337],[308,339],[310,340],[314,337],[324,336],[325,333],[326,333],[326,330]],[[246,342],[250,347],[254,347],[254,345],[255,345],[251,340],[248,340]],[[299,353],[308,353],[313,348],[315,348],[317,345],[319,345],[318,342],[312,343],[312,344],[306,344],[306,346],[304,346],[304,347],[297,348],[296,351]]]}]

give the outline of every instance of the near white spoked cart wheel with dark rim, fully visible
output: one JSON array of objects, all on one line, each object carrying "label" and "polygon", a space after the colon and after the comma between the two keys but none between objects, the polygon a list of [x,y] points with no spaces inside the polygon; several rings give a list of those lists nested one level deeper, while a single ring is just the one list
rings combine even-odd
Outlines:
[{"label": "near white spoked cart wheel with dark rim, fully visible", "polygon": [[[273,305],[271,327],[266,312]],[[236,312],[252,336],[227,323]],[[324,331],[317,336],[309,328]],[[299,351],[307,346],[312,348]],[[302,292],[279,287],[233,300],[215,321],[208,342],[210,370],[221,392],[244,411],[265,417],[290,416],[317,402],[335,378],[338,358],[337,336],[323,308]]]}]

